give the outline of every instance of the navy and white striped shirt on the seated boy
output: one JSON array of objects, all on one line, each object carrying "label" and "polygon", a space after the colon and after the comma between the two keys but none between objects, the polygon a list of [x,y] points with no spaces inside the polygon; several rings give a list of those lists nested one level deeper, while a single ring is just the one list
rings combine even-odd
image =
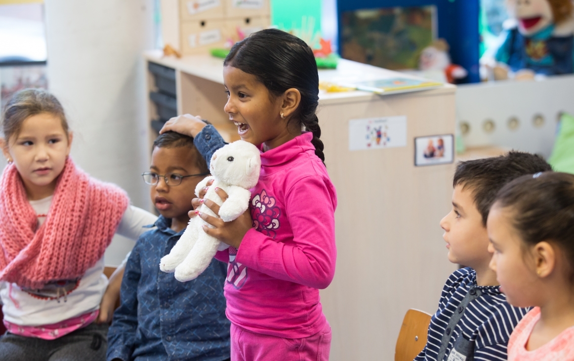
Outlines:
[{"label": "navy and white striped shirt on the seated boy", "polygon": [[[460,307],[467,293],[474,295],[476,292],[479,292],[478,298],[470,301],[466,309]],[[458,323],[449,327],[449,321],[455,312],[463,311]],[[510,333],[528,311],[507,303],[499,286],[477,286],[476,272],[472,268],[456,270],[444,285],[439,309],[430,321],[426,346],[414,360],[447,361],[459,339],[459,342],[470,345],[472,351],[466,358],[452,352],[452,356],[456,354],[459,357],[451,357],[451,360],[470,361],[473,357],[474,360],[506,360]],[[437,360],[445,332],[451,336],[444,357]]]}]

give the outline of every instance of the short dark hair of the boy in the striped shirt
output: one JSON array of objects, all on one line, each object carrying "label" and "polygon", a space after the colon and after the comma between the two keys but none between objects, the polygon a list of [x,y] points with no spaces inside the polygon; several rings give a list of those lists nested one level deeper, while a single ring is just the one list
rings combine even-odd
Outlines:
[{"label": "short dark hair of the boy in the striped shirt", "polygon": [[482,215],[482,223],[486,227],[490,206],[506,183],[522,175],[548,171],[552,171],[552,167],[541,156],[510,151],[495,158],[459,162],[453,187],[462,185],[463,189],[471,189],[476,209]]}]

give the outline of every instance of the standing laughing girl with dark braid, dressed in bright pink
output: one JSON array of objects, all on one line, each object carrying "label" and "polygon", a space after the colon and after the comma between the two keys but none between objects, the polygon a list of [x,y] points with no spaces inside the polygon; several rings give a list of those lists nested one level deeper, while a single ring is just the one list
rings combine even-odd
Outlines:
[{"label": "standing laughing girl with dark braid, dressed in bright pink", "polygon": [[[337,201],[315,115],[315,57],[299,38],[262,30],[234,45],[223,79],[224,110],[241,139],[259,146],[262,163],[249,211],[232,222],[200,214],[215,227],[204,231],[231,245],[216,255],[228,262],[231,359],[328,360],[331,328],[319,289],[335,273]],[[191,134],[190,122],[179,117],[162,131]],[[218,214],[215,203],[205,204]]]}]

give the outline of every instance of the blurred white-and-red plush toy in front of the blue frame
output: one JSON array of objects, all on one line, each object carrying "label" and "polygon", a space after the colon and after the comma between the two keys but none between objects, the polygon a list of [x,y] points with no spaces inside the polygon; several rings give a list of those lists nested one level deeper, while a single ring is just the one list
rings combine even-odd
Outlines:
[{"label": "blurred white-and-red plush toy in front of the blue frame", "polygon": [[449,46],[444,39],[437,39],[432,45],[422,49],[418,68],[424,73],[439,72],[448,83],[456,83],[467,77],[468,72],[460,65],[452,64],[448,55]]}]

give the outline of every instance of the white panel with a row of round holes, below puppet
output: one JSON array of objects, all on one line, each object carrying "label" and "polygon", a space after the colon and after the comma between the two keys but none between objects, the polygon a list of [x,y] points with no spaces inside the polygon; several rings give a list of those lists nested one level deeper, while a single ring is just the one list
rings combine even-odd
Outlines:
[{"label": "white panel with a row of round holes, below puppet", "polygon": [[[574,113],[574,75],[464,84],[456,91],[457,121],[470,125],[463,136],[467,147],[500,146],[548,158],[560,112]],[[542,124],[533,121],[538,115]],[[518,120],[518,127],[509,127],[511,118]],[[488,120],[495,125],[491,132],[484,130]]]}]

